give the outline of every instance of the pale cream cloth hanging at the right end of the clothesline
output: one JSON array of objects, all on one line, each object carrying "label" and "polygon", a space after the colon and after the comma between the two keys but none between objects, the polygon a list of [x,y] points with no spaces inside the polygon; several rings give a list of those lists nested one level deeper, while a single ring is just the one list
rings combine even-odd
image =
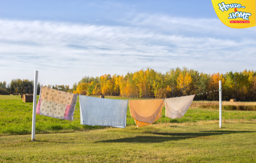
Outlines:
[{"label": "pale cream cloth hanging at the right end of the clothesline", "polygon": [[168,118],[181,118],[191,105],[195,95],[165,99],[165,115]]}]

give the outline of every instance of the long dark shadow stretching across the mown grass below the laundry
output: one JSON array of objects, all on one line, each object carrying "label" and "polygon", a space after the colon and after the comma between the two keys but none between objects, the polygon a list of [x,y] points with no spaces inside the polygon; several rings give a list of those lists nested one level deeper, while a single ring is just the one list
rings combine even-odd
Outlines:
[{"label": "long dark shadow stretching across the mown grass below the laundry", "polygon": [[133,138],[122,138],[122,139],[113,139],[113,140],[104,140],[97,141],[96,143],[161,143],[166,141],[174,141],[174,140],[184,140],[190,138],[200,138],[207,137],[212,135],[223,135],[230,133],[248,133],[255,131],[199,131],[197,133],[161,133],[161,132],[151,132],[151,134],[155,135],[163,135],[163,136],[137,136]]}]

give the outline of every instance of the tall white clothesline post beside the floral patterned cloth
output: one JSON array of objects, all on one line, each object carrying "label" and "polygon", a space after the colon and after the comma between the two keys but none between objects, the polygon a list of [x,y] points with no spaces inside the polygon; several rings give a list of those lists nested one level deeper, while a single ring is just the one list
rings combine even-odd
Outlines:
[{"label": "tall white clothesline post beside the floral patterned cloth", "polygon": [[35,141],[35,112],[36,112],[36,109],[37,109],[37,78],[38,78],[38,71],[35,71],[31,141]]}]

